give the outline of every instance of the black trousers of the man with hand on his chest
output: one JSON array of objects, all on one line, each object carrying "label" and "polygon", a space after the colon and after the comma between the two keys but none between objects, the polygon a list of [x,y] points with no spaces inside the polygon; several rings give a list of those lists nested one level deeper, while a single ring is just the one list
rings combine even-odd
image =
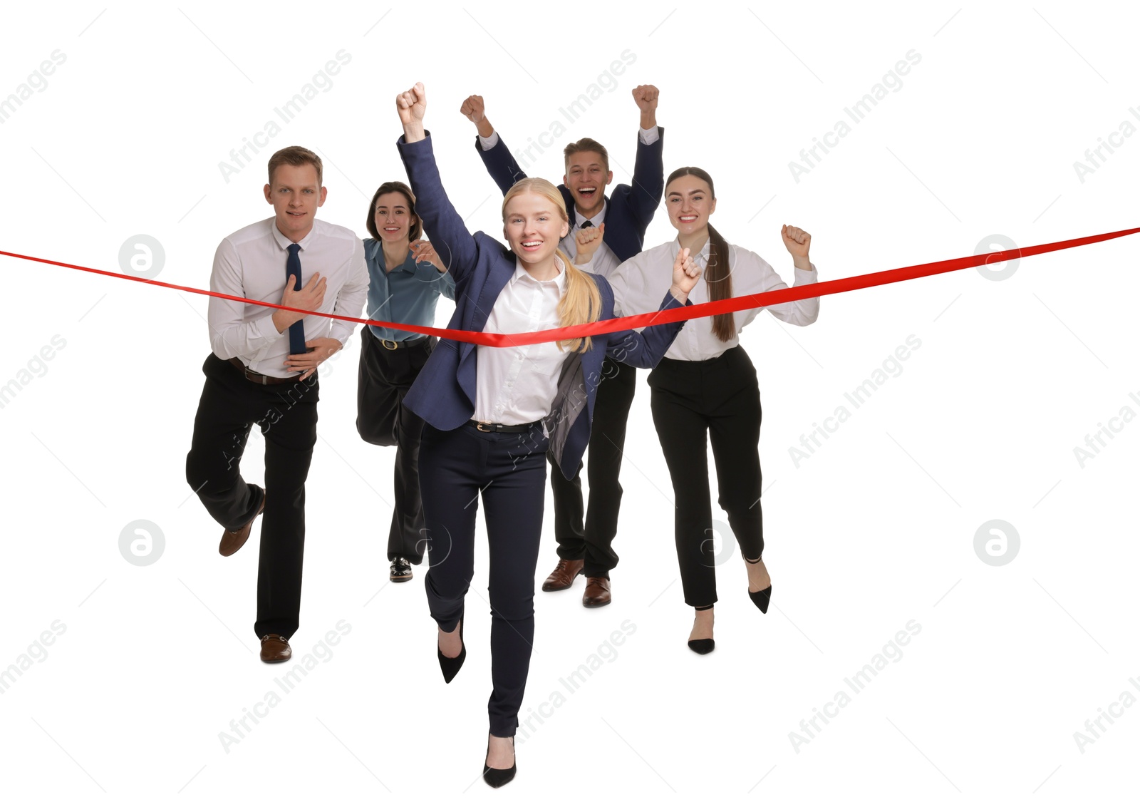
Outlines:
[{"label": "black trousers of the man with hand on his chest", "polygon": [[[266,500],[258,559],[258,637],[292,638],[300,625],[304,557],[304,480],[317,441],[317,374],[287,384],[255,384],[211,354],[186,455],[186,480],[206,512],[238,529]],[[266,439],[266,487],[250,485],[239,470],[256,424]]]}]

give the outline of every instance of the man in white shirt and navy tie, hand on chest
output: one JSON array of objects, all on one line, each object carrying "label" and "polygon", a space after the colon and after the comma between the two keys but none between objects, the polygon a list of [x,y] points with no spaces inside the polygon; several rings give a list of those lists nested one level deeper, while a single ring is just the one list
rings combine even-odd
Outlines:
[{"label": "man in white shirt and navy tie, hand on chest", "polygon": [[[327,189],[320,159],[286,147],[269,160],[266,201],[274,217],[221,241],[210,289],[307,311],[359,317],[368,291],[364,244],[350,229],[316,219]],[[258,564],[261,659],[287,661],[299,626],[304,553],[304,480],[317,441],[317,367],[356,324],[210,298],[210,346],[186,479],[222,525],[228,557],[264,511]],[[266,439],[266,487],[238,470],[256,423]]]}]

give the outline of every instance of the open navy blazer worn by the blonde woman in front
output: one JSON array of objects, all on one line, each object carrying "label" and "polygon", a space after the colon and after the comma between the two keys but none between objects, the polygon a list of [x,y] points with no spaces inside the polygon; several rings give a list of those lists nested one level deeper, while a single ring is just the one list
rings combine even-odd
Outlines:
[{"label": "open navy blazer worn by the blonde woman in front", "polygon": [[[467,230],[443,192],[430,133],[410,144],[400,137],[397,147],[416,195],[416,214],[455,278],[455,314],[448,327],[482,331],[495,299],[514,275],[516,257],[498,240]],[[597,284],[602,297],[601,319],[613,317],[613,291],[609,282],[586,275]],[[666,292],[660,308],[679,306],[673,293]],[[685,306],[692,306],[692,301]],[[563,476],[573,477],[586,452],[594,396],[602,380],[602,359],[610,356],[636,367],[654,367],[683,325],[683,322],[665,323],[648,326],[641,333],[625,330],[595,334],[588,351],[567,355],[551,414],[544,419],[551,456]],[[477,363],[478,349],[473,343],[441,339],[404,403],[437,429],[465,424],[475,412]],[[583,411],[585,415],[580,414]]]}]

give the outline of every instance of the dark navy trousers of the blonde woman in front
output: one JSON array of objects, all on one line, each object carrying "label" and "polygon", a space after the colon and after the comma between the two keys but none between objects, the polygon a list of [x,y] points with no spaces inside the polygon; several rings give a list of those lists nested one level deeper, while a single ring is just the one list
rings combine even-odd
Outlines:
[{"label": "dark navy trousers of the blonde woman in front", "polygon": [[475,512],[482,496],[490,552],[490,732],[506,738],[519,726],[535,638],[535,566],[543,529],[547,441],[530,432],[441,431],[425,424],[420,489],[427,528],[424,589],[432,618],[455,630],[474,575]]}]

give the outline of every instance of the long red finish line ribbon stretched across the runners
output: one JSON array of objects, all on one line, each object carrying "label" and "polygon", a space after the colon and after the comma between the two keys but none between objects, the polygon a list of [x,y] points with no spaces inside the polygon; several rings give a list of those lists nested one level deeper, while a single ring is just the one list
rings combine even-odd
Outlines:
[{"label": "long red finish line ribbon stretched across the runners", "polygon": [[[994,251],[993,253],[979,253],[976,256],[960,257],[958,259],[931,261],[931,262],[926,262],[923,265],[911,265],[910,267],[899,267],[893,270],[866,273],[861,276],[834,278],[832,281],[817,282],[815,284],[801,284],[800,286],[789,286],[784,287],[783,290],[760,292],[752,295],[741,295],[739,298],[726,298],[720,301],[709,301],[708,303],[695,303],[693,306],[677,307],[674,309],[666,309],[663,311],[649,311],[640,315],[630,315],[628,317],[614,317],[609,321],[597,321],[596,323],[584,323],[577,326],[564,326],[562,329],[546,329],[544,331],[524,332],[520,334],[489,334],[486,332],[471,332],[457,329],[435,329],[433,326],[414,326],[406,323],[392,323],[390,321],[370,321],[370,319],[363,319],[359,317],[348,317],[345,315],[335,315],[326,311],[306,311],[304,309],[286,307],[282,306],[280,303],[270,303],[269,301],[258,301],[253,300],[252,298],[241,298],[238,295],[227,295],[221,292],[212,292],[210,290],[198,290],[197,287],[181,286],[180,284],[168,284],[166,282],[158,282],[152,278],[140,278],[139,276],[128,276],[121,273],[111,273],[109,270],[98,270],[93,267],[68,265],[67,262],[52,261],[51,259],[40,259],[39,257],[30,257],[23,253],[9,253],[8,251],[0,251],[0,256],[13,257],[14,259],[25,259],[27,261],[38,261],[44,265],[56,265],[58,267],[67,267],[73,270],[83,270],[84,273],[96,273],[100,276],[111,276],[113,278],[127,278],[129,281],[141,282],[144,284],[164,286],[170,290],[181,290],[182,292],[193,292],[198,295],[210,295],[211,298],[223,298],[228,301],[238,301],[241,303],[253,303],[255,306],[263,306],[272,309],[286,309],[288,311],[300,311],[306,315],[328,317],[334,321],[347,321],[349,323],[360,323],[369,326],[383,326],[385,329],[397,329],[399,331],[408,331],[417,334],[434,334],[435,337],[445,338],[448,340],[457,340],[459,342],[473,342],[479,346],[510,348],[512,346],[529,346],[536,342],[573,340],[579,337],[592,337],[594,334],[604,334],[614,331],[622,331],[625,329],[641,329],[643,326],[651,326],[661,323],[673,323],[676,321],[691,321],[698,317],[711,317],[714,315],[720,315],[728,311],[740,311],[742,309],[755,309],[757,307],[773,306],[775,303],[798,301],[804,298],[833,295],[838,292],[850,292],[852,290],[862,290],[869,286],[879,286],[880,284],[893,284],[895,282],[905,282],[912,278],[934,276],[939,273],[951,273],[953,270],[962,270],[968,267],[978,267],[979,265],[990,265],[999,261],[1008,261],[1010,259],[1019,259],[1021,257],[1033,257],[1037,256],[1039,253],[1049,253],[1051,251],[1064,251],[1069,248],[1091,245],[1097,242],[1104,242],[1106,240],[1115,240],[1116,237],[1129,236],[1131,234],[1137,234],[1137,233],[1140,233],[1140,228],[1127,228],[1121,232],[1112,232],[1108,234],[1094,234],[1092,236],[1077,237],[1076,240],[1064,240],[1061,242],[1050,242],[1043,245],[1028,245],[1026,248],[1015,248],[1008,251]],[[662,295],[663,294],[665,293],[662,292]]]}]

